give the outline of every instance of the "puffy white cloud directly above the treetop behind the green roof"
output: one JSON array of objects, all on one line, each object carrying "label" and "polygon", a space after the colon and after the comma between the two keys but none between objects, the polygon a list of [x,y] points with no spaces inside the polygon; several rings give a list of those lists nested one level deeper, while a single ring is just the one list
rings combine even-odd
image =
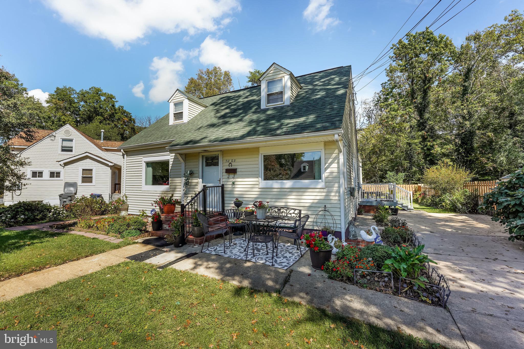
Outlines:
[{"label": "puffy white cloud directly above the treetop behind the green roof", "polygon": [[244,74],[253,70],[253,61],[243,57],[244,52],[227,46],[225,40],[205,38],[200,45],[200,63],[217,65],[232,74]]}]

